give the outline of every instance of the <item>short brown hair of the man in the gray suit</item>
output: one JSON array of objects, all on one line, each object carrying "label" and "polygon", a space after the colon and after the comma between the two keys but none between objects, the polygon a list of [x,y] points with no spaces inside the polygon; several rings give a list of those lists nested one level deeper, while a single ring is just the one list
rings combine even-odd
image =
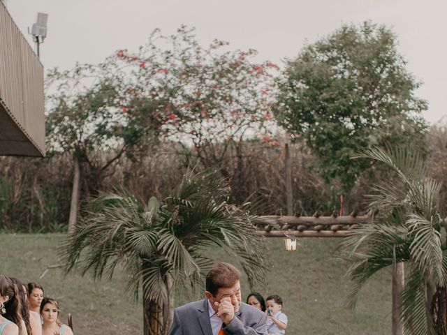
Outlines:
[{"label": "short brown hair of the man in the gray suit", "polygon": [[217,263],[207,273],[206,290],[216,297],[219,288],[230,288],[240,281],[240,271],[229,263]]}]

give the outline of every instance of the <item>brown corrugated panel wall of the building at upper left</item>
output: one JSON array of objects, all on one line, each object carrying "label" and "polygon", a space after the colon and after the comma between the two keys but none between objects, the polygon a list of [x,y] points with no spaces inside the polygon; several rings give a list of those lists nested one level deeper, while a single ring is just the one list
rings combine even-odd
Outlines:
[{"label": "brown corrugated panel wall of the building at upper left", "polygon": [[3,111],[38,149],[30,156],[44,155],[43,66],[3,3],[0,3],[0,100],[5,107]]}]

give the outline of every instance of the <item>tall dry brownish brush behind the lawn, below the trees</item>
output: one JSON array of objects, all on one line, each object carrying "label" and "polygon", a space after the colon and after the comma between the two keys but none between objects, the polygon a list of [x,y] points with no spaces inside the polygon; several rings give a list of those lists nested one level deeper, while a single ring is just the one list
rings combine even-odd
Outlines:
[{"label": "tall dry brownish brush behind the lawn, below the trees", "polygon": [[[446,129],[432,126],[427,134],[430,143],[427,164],[435,179],[445,181],[444,193],[447,192]],[[342,191],[337,181],[321,178],[314,169],[316,159],[300,144],[291,147],[293,206],[295,211],[311,215],[316,210],[330,214],[339,208]],[[117,161],[99,180],[93,180],[94,172],[85,167],[81,200],[118,185],[124,185],[141,198],[152,195],[162,198],[175,188],[188,167],[217,169],[218,174],[230,180],[231,201],[237,204],[249,201],[249,208],[256,214],[279,214],[286,209],[284,152],[279,146],[257,141],[229,146],[217,166],[204,166],[192,151],[165,143],[144,156]],[[369,192],[372,175],[379,172],[379,168],[373,167],[358,178],[356,186],[346,195],[345,207],[365,209],[364,195]],[[66,230],[73,179],[69,157],[1,158],[0,176],[0,228],[22,232]]]}]

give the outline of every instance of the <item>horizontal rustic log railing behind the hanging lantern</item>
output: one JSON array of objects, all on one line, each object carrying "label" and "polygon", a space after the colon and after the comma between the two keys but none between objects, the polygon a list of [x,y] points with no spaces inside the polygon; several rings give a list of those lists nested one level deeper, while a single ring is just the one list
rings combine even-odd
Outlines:
[{"label": "horizontal rustic log railing behind the hanging lantern", "polygon": [[265,237],[346,237],[352,229],[371,223],[370,216],[358,216],[354,211],[348,216],[263,216],[256,222],[258,232]]}]

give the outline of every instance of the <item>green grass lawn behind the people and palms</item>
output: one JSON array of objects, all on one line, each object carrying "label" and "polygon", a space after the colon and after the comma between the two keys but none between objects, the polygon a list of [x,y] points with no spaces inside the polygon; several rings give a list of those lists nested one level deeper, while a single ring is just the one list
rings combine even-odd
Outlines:
[{"label": "green grass lawn behind the people and palms", "polygon": [[[90,276],[64,277],[57,265],[57,245],[64,234],[0,234],[0,273],[24,282],[37,281],[45,295],[59,300],[61,320],[73,314],[75,334],[142,334],[140,302],[124,295],[124,281],[117,272],[112,281],[93,281]],[[332,258],[337,239],[300,239],[298,251],[284,251],[282,239],[268,239],[272,268],[266,288],[254,288],[267,297],[284,300],[289,324],[286,334],[389,334],[391,327],[391,272],[372,278],[360,293],[355,311],[343,305],[349,282],[346,266]],[[231,261],[215,251],[216,260]],[[242,281],[243,296],[249,293]],[[200,297],[197,297],[200,298]],[[177,299],[178,304],[182,304]]]}]

